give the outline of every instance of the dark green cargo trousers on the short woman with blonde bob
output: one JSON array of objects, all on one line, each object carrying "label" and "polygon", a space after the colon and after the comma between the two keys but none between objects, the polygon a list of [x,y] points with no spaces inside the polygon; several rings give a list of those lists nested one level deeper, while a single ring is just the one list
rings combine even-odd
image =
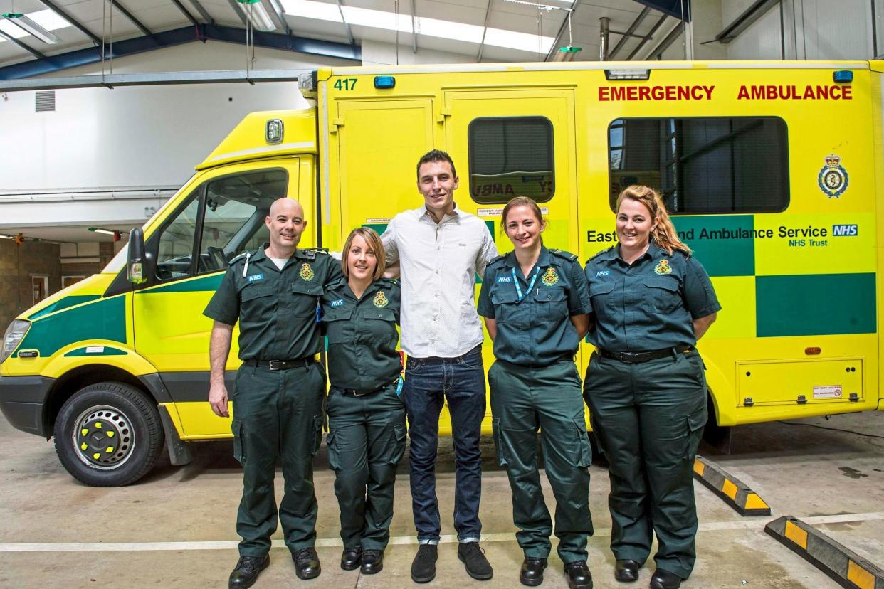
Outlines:
[{"label": "dark green cargo trousers on the short woman with blonde bob", "polygon": [[399,382],[368,395],[329,391],[329,466],[344,547],[383,550],[390,541],[396,465],[405,453]]}]

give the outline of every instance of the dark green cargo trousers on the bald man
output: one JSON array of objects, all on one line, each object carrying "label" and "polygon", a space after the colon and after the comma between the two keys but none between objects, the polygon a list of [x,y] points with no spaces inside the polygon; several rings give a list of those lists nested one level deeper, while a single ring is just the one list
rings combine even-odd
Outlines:
[{"label": "dark green cargo trousers on the bald man", "polygon": [[322,442],[324,390],[325,375],[316,362],[288,370],[240,366],[231,396],[233,453],[242,464],[240,556],[270,551],[277,527],[277,458],[286,481],[278,511],[286,546],[294,552],[314,545],[313,457]]}]

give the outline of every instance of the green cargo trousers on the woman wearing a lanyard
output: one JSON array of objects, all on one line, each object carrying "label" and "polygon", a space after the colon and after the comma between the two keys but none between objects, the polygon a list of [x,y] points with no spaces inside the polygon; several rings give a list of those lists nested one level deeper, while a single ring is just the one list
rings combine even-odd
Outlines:
[{"label": "green cargo trousers on the woman wearing a lanyard", "polygon": [[515,538],[525,556],[546,558],[552,520],[537,470],[541,431],[546,478],[555,495],[555,535],[563,563],[586,560],[592,535],[590,472],[580,374],[571,360],[551,366],[517,366],[497,360],[488,371],[498,463],[513,490]]}]

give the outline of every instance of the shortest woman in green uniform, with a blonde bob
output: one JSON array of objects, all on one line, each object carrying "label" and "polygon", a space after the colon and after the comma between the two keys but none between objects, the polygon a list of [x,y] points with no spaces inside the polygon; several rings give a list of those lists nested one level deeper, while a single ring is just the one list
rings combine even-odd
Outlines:
[{"label": "shortest woman in green uniform, with a blonde bob", "polygon": [[328,335],[329,464],[340,506],[340,566],[377,573],[390,540],[396,465],[405,451],[400,399],[400,286],[382,278],[384,245],[354,229],[341,255],[345,280],[322,298]]}]

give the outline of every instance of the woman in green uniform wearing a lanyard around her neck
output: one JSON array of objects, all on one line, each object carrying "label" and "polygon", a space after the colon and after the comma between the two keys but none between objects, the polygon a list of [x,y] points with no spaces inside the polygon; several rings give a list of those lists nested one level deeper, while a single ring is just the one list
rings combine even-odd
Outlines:
[{"label": "woman in green uniform wearing a lanyard around her neck", "polygon": [[543,582],[552,520],[537,471],[537,428],[556,499],[558,552],[572,589],[592,586],[586,541],[592,534],[591,449],[574,354],[589,326],[586,278],[576,256],[548,250],[545,221],[527,197],[510,200],[503,227],[514,251],[485,269],[478,313],[494,340],[491,385],[494,441],[513,491],[523,585]]}]

